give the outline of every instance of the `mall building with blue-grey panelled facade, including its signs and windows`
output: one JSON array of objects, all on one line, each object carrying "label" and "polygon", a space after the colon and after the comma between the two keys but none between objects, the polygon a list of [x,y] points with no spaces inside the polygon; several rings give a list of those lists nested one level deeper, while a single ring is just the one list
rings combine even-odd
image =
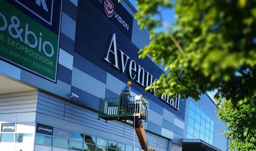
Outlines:
[{"label": "mall building with blue-grey panelled facade, including its signs and windows", "polygon": [[0,150],[141,150],[132,121],[98,119],[99,98],[118,97],[126,81],[150,101],[143,125],[152,148],[227,150],[207,94],[145,91],[163,70],[138,58],[148,32],[128,1],[0,4]]}]

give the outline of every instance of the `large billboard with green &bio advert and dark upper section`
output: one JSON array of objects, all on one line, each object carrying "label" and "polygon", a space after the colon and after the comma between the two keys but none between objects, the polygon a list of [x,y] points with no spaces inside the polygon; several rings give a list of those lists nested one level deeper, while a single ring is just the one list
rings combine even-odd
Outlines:
[{"label": "large billboard with green &bio advert and dark upper section", "polygon": [[33,2],[0,1],[0,58],[56,82],[62,3]]}]

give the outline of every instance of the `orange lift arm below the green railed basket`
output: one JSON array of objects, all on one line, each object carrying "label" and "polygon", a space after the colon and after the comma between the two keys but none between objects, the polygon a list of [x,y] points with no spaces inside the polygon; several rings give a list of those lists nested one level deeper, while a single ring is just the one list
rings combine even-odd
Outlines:
[{"label": "orange lift arm below the green railed basket", "polygon": [[142,124],[142,121],[136,119],[134,126],[135,126],[135,131],[138,136],[141,148],[145,151],[155,151],[154,149],[150,148],[150,144],[147,141],[146,132]]}]

